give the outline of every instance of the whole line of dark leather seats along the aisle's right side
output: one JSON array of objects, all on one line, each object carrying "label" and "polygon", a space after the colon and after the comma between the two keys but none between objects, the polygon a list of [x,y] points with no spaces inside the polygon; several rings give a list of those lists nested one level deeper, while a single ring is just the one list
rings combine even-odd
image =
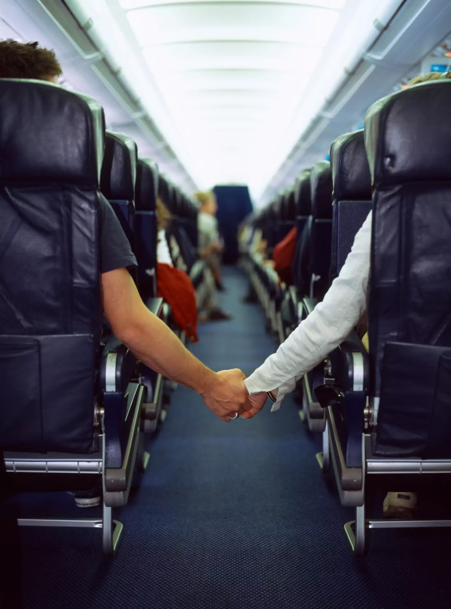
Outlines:
[{"label": "whole line of dark leather seats along the aisle's right side", "polygon": [[[451,526],[436,515],[372,514],[375,490],[421,489],[451,474],[450,101],[449,82],[379,100],[364,130],[332,143],[330,163],[302,171],[288,194],[248,220],[244,266],[282,342],[322,300],[323,310],[333,306],[325,294],[372,213],[364,329],[358,334],[356,326],[299,387],[300,414],[322,433],[322,471],[332,466],[341,503],[355,508],[345,531],[357,555],[366,551],[368,529]],[[251,244],[258,230],[268,244],[272,233],[273,244],[283,235],[281,201],[289,197],[297,242],[293,284],[285,285]],[[341,276],[352,283],[347,270]],[[361,340],[367,330],[369,351]]]}]

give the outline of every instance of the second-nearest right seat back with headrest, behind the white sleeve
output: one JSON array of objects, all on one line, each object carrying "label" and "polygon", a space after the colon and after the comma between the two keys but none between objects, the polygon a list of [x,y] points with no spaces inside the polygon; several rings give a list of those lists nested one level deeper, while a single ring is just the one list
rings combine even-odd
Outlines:
[{"label": "second-nearest right seat back with headrest, behind the white sleeve", "polygon": [[346,133],[330,147],[332,167],[332,250],[330,283],[343,267],[355,235],[372,208],[371,175],[363,130]]}]

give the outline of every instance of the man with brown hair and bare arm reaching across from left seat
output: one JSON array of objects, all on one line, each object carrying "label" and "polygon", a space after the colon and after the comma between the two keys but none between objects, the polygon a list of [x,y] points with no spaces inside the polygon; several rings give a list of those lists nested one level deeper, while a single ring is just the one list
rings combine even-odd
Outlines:
[{"label": "man with brown hair and bare arm reaching across from left seat", "polygon": [[[62,68],[53,51],[38,43],[0,41],[0,78],[55,82]],[[137,264],[112,207],[99,195],[101,285],[104,314],[113,333],[152,370],[201,394],[225,422],[250,407],[241,370],[215,373],[190,353],[144,305],[127,267]]]}]

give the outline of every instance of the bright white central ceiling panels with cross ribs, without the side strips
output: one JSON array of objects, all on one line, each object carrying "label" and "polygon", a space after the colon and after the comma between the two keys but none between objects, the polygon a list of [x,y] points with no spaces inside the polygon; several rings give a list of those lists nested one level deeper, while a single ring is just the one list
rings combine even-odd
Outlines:
[{"label": "bright white central ceiling panels with cross ribs, without the side strips", "polygon": [[199,186],[280,147],[346,1],[119,0]]}]

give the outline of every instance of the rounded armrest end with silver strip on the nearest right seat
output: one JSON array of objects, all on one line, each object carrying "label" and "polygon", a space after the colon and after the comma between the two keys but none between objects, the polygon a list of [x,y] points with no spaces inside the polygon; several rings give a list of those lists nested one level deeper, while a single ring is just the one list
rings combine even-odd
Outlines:
[{"label": "rounded armrest end with silver strip on the nearest right seat", "polygon": [[330,354],[336,384],[344,391],[369,389],[369,358],[355,331]]}]

